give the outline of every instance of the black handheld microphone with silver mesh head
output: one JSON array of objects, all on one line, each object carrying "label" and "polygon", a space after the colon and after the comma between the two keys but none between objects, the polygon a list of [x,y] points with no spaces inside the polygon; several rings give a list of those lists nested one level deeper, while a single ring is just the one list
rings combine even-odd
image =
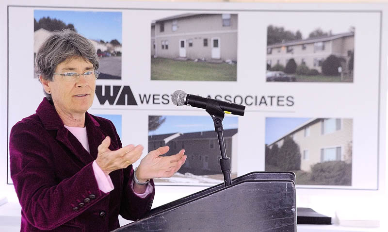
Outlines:
[{"label": "black handheld microphone with silver mesh head", "polygon": [[206,106],[208,103],[217,103],[220,105],[221,109],[225,113],[229,113],[232,115],[240,115],[244,116],[244,105],[238,105],[234,103],[230,103],[228,101],[222,101],[222,100],[216,100],[211,98],[202,98],[196,95],[187,94],[182,90],[176,90],[171,95],[171,100],[174,103],[174,105],[181,106],[181,105],[188,105],[193,106],[197,108],[206,109]]}]

